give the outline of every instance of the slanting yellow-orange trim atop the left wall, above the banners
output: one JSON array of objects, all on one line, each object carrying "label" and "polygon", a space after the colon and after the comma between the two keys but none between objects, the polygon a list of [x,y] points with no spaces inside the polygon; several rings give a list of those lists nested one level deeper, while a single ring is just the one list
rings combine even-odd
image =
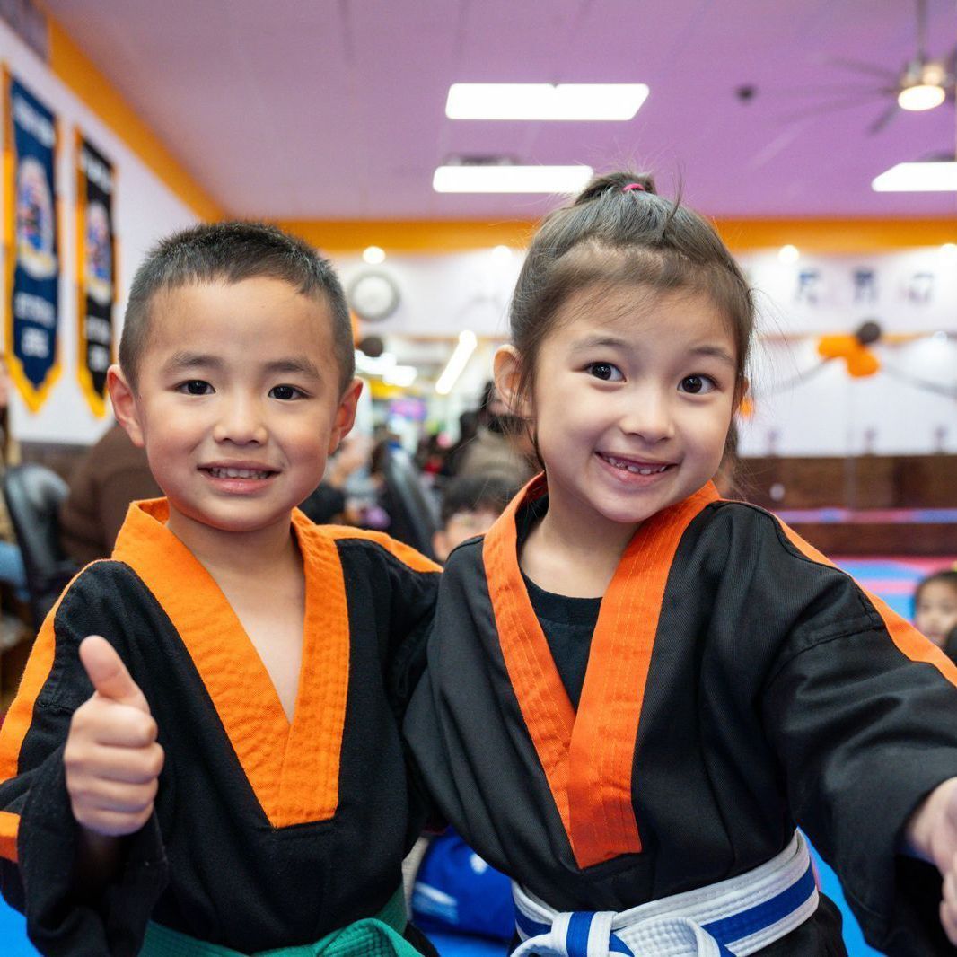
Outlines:
[{"label": "slanting yellow-orange trim atop the left wall, above the banners", "polygon": [[222,219],[223,210],[219,205],[193,180],[54,17],[49,13],[46,17],[50,31],[50,69],[56,78],[86,103],[197,216],[205,220]]}]

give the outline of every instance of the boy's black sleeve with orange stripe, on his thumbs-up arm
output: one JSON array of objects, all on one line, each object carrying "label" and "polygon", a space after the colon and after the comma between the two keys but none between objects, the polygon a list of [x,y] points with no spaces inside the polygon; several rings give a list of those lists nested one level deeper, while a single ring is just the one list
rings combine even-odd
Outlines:
[{"label": "boy's black sleeve with orange stripe, on his thumbs-up arm", "polygon": [[97,563],[66,591],[37,635],[0,735],[0,766],[13,771],[0,783],[0,812],[4,827],[16,831],[16,861],[0,861],[3,894],[26,914],[34,945],[56,957],[138,954],[166,883],[155,814],[126,838],[120,872],[96,900],[78,893],[74,880],[78,828],[63,747],[73,712],[93,693],[78,645],[87,634],[102,634],[136,679],[128,653],[136,610],[122,591],[124,573],[132,574],[117,563]]}]

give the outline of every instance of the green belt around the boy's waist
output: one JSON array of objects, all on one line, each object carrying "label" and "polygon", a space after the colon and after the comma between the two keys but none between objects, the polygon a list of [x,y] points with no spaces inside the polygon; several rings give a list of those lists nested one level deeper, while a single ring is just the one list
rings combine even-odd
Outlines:
[{"label": "green belt around the boy's waist", "polygon": [[406,901],[400,887],[375,917],[334,930],[316,944],[256,950],[246,955],[150,922],[140,957],[420,957],[420,951],[402,936],[406,924]]}]

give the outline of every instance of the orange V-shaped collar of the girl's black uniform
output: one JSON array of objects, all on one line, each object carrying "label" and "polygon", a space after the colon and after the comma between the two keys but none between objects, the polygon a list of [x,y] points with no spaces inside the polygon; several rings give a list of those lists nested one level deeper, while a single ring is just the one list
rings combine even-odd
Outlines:
[{"label": "orange V-shaped collar of the girl's black uniform", "polygon": [[508,675],[572,853],[585,868],[641,851],[632,766],[658,614],[684,530],[719,495],[709,482],[634,533],[602,598],[576,714],[519,567],[516,514],[546,491],[543,476],[525,486],[486,534],[482,559]]}]

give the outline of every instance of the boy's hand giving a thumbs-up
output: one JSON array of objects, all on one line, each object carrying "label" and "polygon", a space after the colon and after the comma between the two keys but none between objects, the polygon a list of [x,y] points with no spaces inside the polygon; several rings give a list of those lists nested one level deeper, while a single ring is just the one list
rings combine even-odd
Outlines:
[{"label": "boy's hand giving a thumbs-up", "polygon": [[133,834],[153,811],[163,769],[156,722],[105,638],[84,638],[79,658],[95,690],[74,713],[63,752],[73,815],[96,834]]}]

